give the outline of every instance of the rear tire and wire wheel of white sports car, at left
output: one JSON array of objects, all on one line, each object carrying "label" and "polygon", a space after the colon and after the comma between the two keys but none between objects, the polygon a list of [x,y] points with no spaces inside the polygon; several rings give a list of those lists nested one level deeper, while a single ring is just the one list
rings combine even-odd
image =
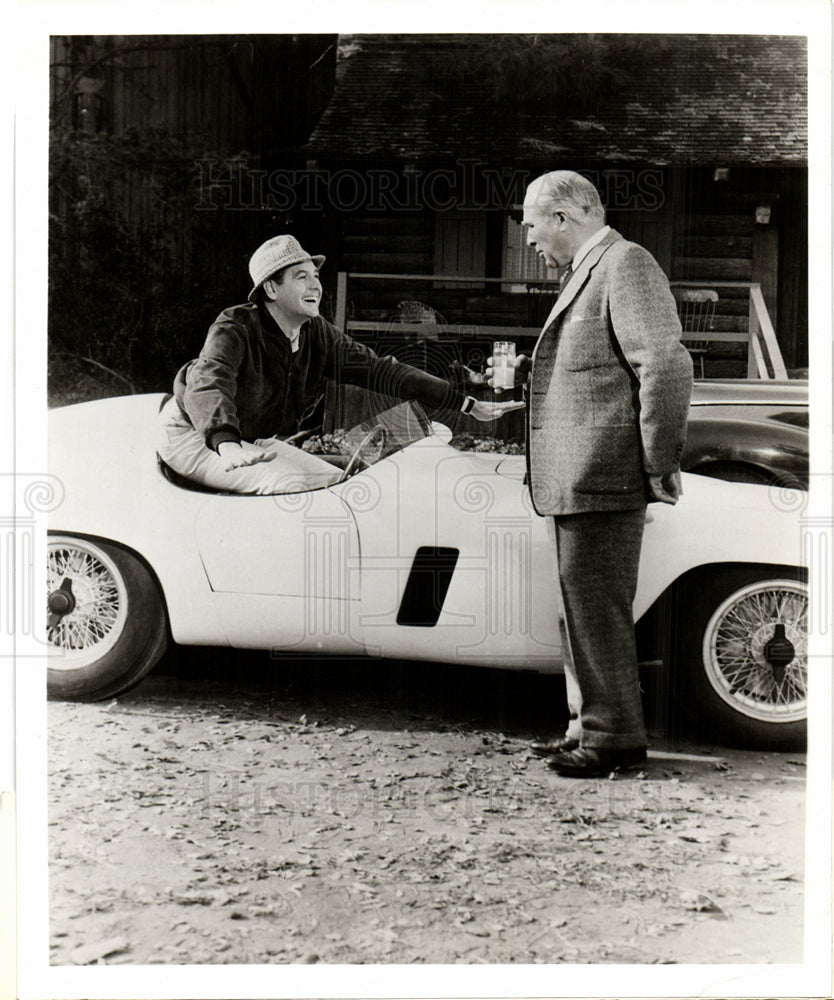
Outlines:
[{"label": "rear tire and wire wheel of white sports car, at left", "polygon": [[100,701],[122,694],[165,652],[168,625],[156,581],[109,542],[50,535],[47,544],[47,695]]}]

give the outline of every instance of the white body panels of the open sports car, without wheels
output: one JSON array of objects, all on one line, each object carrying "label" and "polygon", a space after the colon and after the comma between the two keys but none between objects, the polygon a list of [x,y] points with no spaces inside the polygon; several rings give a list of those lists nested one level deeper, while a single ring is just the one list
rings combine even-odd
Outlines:
[{"label": "white body panels of the open sports car, without wheels", "polygon": [[[64,499],[50,530],[136,553],[175,642],[561,669],[555,548],[523,457],[459,452],[434,435],[327,489],[197,492],[160,472],[163,399],[53,412],[50,471]],[[799,515],[777,491],[683,481],[677,506],[649,506],[636,619],[697,567],[801,564]],[[421,547],[458,553],[430,627],[397,621]]]}]

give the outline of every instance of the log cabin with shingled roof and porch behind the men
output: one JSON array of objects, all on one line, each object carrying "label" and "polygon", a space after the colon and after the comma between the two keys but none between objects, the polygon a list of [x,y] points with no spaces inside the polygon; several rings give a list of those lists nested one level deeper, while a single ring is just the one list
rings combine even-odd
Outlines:
[{"label": "log cabin with shingled roof and porch behind the men", "polygon": [[806,89],[800,37],[341,36],[333,98],[304,147],[338,318],[388,344],[399,303],[416,300],[464,362],[482,357],[487,326],[534,335],[553,286],[519,203],[533,177],[569,168],[673,282],[717,290],[707,375],[745,373],[731,362],[759,322],[755,286],[788,368],[802,368]]}]

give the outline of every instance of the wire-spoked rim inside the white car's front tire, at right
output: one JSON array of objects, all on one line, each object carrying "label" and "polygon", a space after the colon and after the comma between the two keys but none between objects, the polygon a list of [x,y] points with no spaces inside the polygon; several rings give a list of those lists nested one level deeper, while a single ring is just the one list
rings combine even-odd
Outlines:
[{"label": "wire-spoked rim inside the white car's front tire, at right", "polygon": [[760,722],[798,722],[808,709],[808,593],[796,580],[748,584],[724,600],[704,632],[716,694]]}]

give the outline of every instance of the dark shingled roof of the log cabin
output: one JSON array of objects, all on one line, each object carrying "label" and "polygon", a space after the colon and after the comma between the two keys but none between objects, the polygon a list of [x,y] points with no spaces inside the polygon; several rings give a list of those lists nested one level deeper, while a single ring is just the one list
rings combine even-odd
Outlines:
[{"label": "dark shingled roof of the log cabin", "polygon": [[[503,53],[528,42],[530,73],[524,53],[507,69]],[[352,35],[304,148],[340,161],[799,166],[807,143],[800,36]]]}]

